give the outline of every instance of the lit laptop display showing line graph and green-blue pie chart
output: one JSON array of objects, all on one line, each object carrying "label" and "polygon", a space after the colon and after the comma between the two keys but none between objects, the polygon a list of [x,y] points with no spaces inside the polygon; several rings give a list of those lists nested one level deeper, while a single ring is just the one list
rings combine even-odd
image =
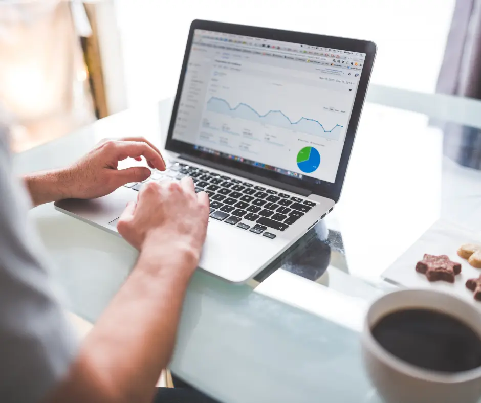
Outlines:
[{"label": "lit laptop display showing line graph and green-blue pie chart", "polygon": [[196,29],[172,138],[334,183],[365,53]]}]

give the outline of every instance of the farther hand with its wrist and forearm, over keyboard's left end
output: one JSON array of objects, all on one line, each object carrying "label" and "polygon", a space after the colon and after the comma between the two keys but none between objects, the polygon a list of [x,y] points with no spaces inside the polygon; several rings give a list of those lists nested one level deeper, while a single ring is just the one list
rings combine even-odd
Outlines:
[{"label": "farther hand with its wrist and forearm, over keyboard's left end", "polygon": [[160,151],[143,137],[106,139],[72,166],[25,176],[34,204],[63,198],[96,198],[112,193],[129,182],[141,182],[150,176],[147,167],[117,169],[127,158],[147,160],[151,168],[165,170]]}]

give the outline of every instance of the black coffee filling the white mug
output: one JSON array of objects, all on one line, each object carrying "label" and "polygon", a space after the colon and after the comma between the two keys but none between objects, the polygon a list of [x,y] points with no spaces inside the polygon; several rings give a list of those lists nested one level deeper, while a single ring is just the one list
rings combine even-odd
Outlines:
[{"label": "black coffee filling the white mug", "polygon": [[429,309],[406,309],[371,330],[391,354],[421,368],[461,372],[481,366],[481,338],[464,322]]}]

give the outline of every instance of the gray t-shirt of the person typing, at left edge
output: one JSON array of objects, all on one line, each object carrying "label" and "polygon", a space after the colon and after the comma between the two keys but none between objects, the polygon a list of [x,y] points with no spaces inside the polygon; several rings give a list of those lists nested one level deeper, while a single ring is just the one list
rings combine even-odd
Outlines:
[{"label": "gray t-shirt of the person typing, at left edge", "polygon": [[77,340],[55,296],[30,199],[0,122],[0,402],[37,402],[68,370]]}]

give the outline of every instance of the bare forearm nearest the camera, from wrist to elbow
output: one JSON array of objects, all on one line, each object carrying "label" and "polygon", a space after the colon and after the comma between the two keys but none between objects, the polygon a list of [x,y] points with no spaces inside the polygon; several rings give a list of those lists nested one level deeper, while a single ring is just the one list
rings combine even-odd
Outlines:
[{"label": "bare forearm nearest the camera, from wrist to elbow", "polygon": [[170,360],[192,272],[183,267],[191,263],[181,251],[159,254],[158,249],[141,253],[52,401],[152,400],[159,375]]}]

